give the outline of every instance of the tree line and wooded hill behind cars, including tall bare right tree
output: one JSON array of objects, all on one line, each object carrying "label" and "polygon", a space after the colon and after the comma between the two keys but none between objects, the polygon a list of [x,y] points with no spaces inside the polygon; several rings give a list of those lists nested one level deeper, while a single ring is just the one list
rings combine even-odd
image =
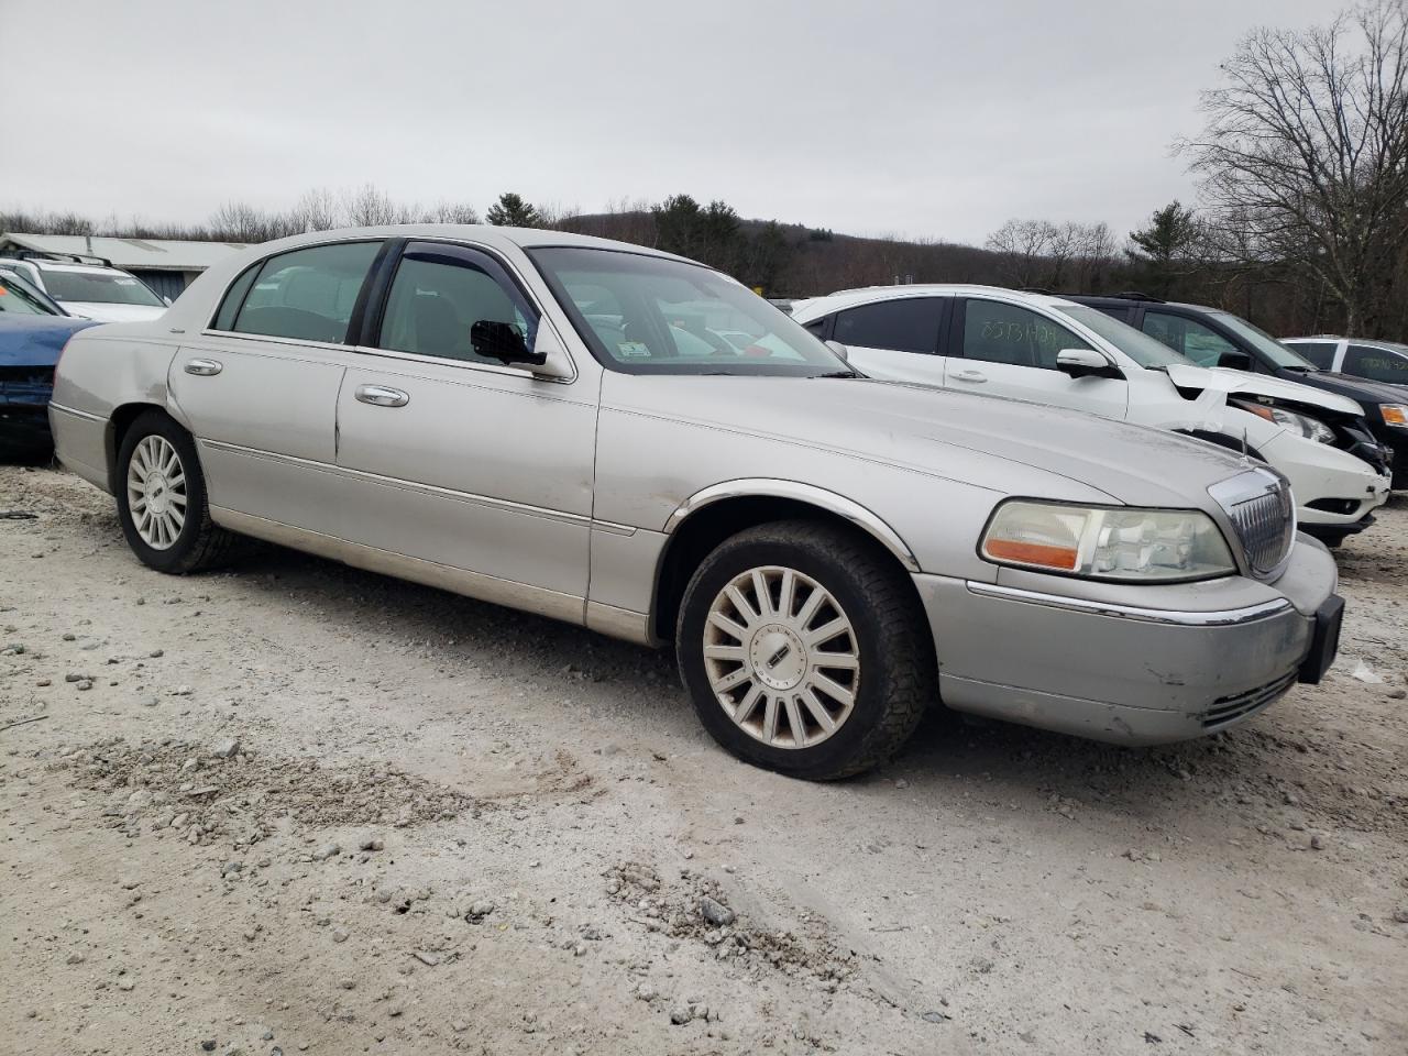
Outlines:
[{"label": "tree line and wooded hill behind cars, including tall bare right tree", "polygon": [[[1304,31],[1260,28],[1201,97],[1202,130],[1176,151],[1194,206],[1108,224],[1014,218],[983,246],[857,238],[745,220],[673,194],[583,213],[505,191],[490,224],[615,238],[719,268],[773,297],[855,286],[960,282],[1055,293],[1139,291],[1246,315],[1274,334],[1408,337],[1408,0],[1369,0]],[[1155,203],[1150,203],[1152,206]],[[407,204],[366,184],[310,190],[287,210],[227,203],[206,224],[93,222],[4,213],[0,230],[260,242],[335,227],[479,221],[466,203]]]}]

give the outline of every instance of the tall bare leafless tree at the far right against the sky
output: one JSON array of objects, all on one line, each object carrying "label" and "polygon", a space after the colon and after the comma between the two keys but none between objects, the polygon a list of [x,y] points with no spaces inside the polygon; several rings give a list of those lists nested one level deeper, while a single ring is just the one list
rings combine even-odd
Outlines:
[{"label": "tall bare leafless tree at the far right against the sky", "polygon": [[1318,279],[1373,329],[1408,235],[1408,8],[1373,0],[1305,32],[1256,30],[1180,149],[1218,227]]}]

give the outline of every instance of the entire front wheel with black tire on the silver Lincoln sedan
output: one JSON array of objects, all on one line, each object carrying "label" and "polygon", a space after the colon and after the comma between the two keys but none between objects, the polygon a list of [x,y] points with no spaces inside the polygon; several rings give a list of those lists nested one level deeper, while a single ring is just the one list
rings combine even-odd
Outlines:
[{"label": "entire front wheel with black tire on the silver Lincoln sedan", "polygon": [[938,698],[932,639],[903,570],[828,524],[780,521],[721,543],[684,591],[676,646],[714,739],[794,777],[886,762]]}]

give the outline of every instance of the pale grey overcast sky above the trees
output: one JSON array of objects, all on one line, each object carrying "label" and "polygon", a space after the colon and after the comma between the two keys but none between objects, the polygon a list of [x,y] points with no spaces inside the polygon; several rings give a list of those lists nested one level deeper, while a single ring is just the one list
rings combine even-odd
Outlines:
[{"label": "pale grey overcast sky above the trees", "polygon": [[[1335,0],[0,0],[0,208],[203,221],[308,187],[981,242],[1122,237],[1255,25]],[[1148,11],[1148,14],[1145,14]]]}]

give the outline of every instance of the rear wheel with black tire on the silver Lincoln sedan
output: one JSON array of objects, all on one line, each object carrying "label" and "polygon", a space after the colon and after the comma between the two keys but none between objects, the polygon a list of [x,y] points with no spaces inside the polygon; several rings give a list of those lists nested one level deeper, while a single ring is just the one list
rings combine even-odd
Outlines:
[{"label": "rear wheel with black tire on the silver Lincoln sedan", "polygon": [[228,553],[232,536],[210,520],[196,445],[161,411],[144,413],[122,436],[114,491],[122,535],[144,565],[183,574]]}]

